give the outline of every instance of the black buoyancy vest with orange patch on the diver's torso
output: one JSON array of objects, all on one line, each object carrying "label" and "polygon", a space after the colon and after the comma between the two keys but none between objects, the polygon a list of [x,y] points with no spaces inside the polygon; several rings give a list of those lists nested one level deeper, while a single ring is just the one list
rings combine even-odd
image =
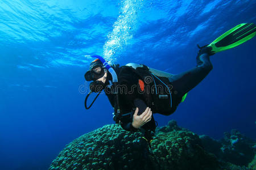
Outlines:
[{"label": "black buoyancy vest with orange patch on the diver's torso", "polygon": [[131,71],[140,77],[138,79],[139,93],[143,95],[144,101],[153,113],[170,115],[175,112],[181,99],[177,99],[167,77],[156,76],[145,65],[136,69],[131,67]]}]

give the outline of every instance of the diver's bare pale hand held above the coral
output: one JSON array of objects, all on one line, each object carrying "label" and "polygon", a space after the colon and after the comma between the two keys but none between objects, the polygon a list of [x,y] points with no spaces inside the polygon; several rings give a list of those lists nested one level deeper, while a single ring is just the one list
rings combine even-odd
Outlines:
[{"label": "diver's bare pale hand held above the coral", "polygon": [[146,124],[148,121],[151,120],[152,111],[150,108],[146,108],[146,110],[138,116],[139,109],[136,108],[133,114],[133,127],[139,129],[141,126]]}]

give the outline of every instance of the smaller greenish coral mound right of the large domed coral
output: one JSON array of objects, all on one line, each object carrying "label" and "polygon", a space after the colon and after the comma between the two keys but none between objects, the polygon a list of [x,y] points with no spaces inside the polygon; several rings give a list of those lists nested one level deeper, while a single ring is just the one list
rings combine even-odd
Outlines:
[{"label": "smaller greenish coral mound right of the large domed coral", "polygon": [[176,121],[156,130],[151,143],[154,169],[217,169],[217,158],[203,149],[198,135]]}]

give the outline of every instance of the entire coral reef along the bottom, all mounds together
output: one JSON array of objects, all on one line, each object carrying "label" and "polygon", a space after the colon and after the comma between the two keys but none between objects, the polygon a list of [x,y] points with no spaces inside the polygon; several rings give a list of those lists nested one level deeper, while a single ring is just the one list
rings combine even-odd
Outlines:
[{"label": "entire coral reef along the bottom, all mounds together", "polygon": [[151,148],[142,137],[141,132],[131,133],[117,124],[105,125],[69,143],[49,169],[253,169],[256,165],[255,142],[237,130],[216,141],[172,120],[156,129]]}]

